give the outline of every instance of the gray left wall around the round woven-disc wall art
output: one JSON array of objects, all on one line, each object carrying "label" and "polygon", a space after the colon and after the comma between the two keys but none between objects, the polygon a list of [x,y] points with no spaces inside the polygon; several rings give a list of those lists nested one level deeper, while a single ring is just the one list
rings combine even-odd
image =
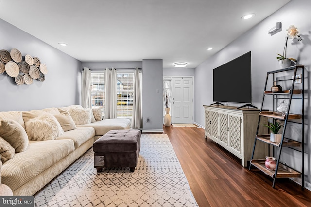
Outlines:
[{"label": "gray left wall around the round woven-disc wall art", "polygon": [[[70,47],[70,46],[69,46]],[[47,65],[45,81],[18,86],[0,74],[0,111],[27,111],[81,103],[81,62],[0,19],[0,49],[17,48]]]}]

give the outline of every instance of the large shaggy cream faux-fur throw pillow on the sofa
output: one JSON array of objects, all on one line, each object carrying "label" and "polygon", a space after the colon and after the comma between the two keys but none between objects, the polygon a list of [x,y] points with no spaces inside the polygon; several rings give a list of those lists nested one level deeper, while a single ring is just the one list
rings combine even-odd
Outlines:
[{"label": "large shaggy cream faux-fur throw pillow on the sofa", "polygon": [[62,135],[63,129],[52,114],[44,114],[25,122],[29,140],[54,140]]}]

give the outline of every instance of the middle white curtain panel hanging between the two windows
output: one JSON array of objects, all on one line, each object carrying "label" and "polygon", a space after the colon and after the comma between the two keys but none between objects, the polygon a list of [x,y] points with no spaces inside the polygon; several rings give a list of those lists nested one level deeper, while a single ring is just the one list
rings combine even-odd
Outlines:
[{"label": "middle white curtain panel hanging between the two windows", "polygon": [[114,68],[105,73],[105,119],[117,118],[117,72]]}]

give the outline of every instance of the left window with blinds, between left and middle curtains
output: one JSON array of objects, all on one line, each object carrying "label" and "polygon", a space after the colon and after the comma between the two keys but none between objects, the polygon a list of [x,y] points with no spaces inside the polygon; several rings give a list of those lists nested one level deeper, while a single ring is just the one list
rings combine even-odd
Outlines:
[{"label": "left window with blinds, between left and middle curtains", "polygon": [[103,72],[91,74],[91,104],[92,108],[100,108],[104,116],[104,97],[105,97],[105,83]]}]

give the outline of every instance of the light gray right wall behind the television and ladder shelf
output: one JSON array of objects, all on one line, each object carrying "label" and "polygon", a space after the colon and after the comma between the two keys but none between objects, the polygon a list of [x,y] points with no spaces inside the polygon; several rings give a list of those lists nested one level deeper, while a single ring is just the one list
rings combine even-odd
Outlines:
[{"label": "light gray right wall behind the television and ladder shelf", "polygon": [[[287,57],[298,59],[300,64],[305,65],[306,84],[305,87],[311,84],[309,79],[311,70],[311,0],[292,0],[287,5],[276,11],[276,13],[264,19],[254,28],[245,32],[242,36],[234,40],[227,47],[207,59],[195,69],[195,122],[204,126],[204,109],[202,105],[213,103],[213,85],[212,85],[212,70],[225,64],[226,62],[251,51],[252,55],[252,96],[253,105],[260,107],[262,100],[262,91],[264,89],[265,77],[268,71],[273,71],[279,68],[276,60],[276,53],[283,52],[285,44],[286,29],[290,25],[294,25],[300,31],[302,41],[298,44],[292,44],[289,40],[287,47]],[[256,16],[255,16],[256,17]],[[267,33],[268,29],[276,22],[282,22],[282,31],[274,35]],[[242,22],[241,22],[242,23]],[[228,31],[229,32],[229,31]],[[308,88],[309,89],[309,88]],[[305,104],[305,123],[311,118],[310,116],[310,90],[307,102]],[[310,122],[309,122],[310,123]],[[305,127],[305,179],[311,189],[311,124]],[[301,162],[299,153],[284,150],[284,157],[287,157],[287,163],[299,165]],[[293,159],[294,158],[294,159]],[[286,158],[285,158],[286,159]]]}]

